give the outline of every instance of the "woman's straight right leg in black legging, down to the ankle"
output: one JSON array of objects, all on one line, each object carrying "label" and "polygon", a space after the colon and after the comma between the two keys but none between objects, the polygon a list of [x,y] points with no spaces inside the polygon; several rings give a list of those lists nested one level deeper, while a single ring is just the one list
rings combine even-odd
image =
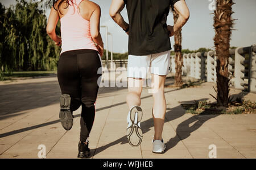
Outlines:
[{"label": "woman's straight right leg in black legging, down to the ankle", "polygon": [[[79,72],[81,74],[81,102],[82,113],[80,119],[80,141],[85,142],[92,130],[98,88],[98,69],[101,69],[101,60],[97,53],[77,55]],[[100,81],[99,81],[100,82]]]}]

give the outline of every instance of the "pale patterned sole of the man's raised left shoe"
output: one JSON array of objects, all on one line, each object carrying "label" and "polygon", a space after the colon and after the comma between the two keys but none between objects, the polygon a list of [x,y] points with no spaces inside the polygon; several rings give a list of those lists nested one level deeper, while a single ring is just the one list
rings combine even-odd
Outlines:
[{"label": "pale patterned sole of the man's raised left shoe", "polygon": [[131,146],[139,146],[142,142],[143,134],[138,123],[142,120],[142,109],[139,106],[134,106],[130,111],[131,126],[127,128],[127,139]]}]

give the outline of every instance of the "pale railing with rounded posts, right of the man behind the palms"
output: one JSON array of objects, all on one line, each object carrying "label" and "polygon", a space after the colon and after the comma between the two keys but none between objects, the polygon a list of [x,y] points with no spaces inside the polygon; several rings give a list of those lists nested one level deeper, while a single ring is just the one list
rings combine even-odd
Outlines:
[{"label": "pale railing with rounded posts, right of the man behind the palms", "polygon": [[[175,56],[171,56],[171,72],[175,73]],[[183,55],[184,76],[216,82],[216,56],[214,51]],[[256,45],[230,49],[228,69],[231,83],[236,89],[256,92]]]}]

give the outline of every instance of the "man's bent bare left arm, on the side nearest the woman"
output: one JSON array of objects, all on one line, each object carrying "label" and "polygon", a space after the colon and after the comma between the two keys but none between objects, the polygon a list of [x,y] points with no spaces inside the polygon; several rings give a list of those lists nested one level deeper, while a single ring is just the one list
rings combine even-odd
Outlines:
[{"label": "man's bent bare left arm, on the side nearest the woman", "polygon": [[123,17],[120,14],[124,7],[125,2],[123,2],[123,0],[113,0],[109,9],[109,15],[114,20],[114,22],[123,28],[123,30],[127,30],[129,28],[129,24],[123,20]]}]

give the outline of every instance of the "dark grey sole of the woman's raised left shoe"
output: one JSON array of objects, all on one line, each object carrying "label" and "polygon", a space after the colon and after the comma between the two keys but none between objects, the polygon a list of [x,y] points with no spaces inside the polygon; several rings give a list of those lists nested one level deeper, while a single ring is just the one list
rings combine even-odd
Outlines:
[{"label": "dark grey sole of the woman's raised left shoe", "polygon": [[73,115],[70,110],[71,97],[69,94],[62,94],[60,96],[60,123],[65,130],[71,130],[73,126]]}]

